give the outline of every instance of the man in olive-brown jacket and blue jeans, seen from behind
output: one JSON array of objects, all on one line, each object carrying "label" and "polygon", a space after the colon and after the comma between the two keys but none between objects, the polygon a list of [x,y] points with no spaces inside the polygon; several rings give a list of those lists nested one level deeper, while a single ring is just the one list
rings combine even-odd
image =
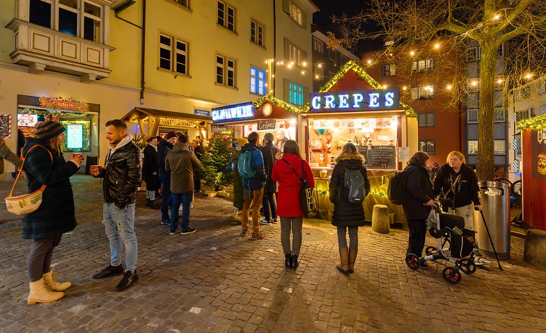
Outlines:
[{"label": "man in olive-brown jacket and blue jeans, seen from behind", "polygon": [[201,168],[201,162],[195,153],[188,148],[188,137],[184,134],[178,137],[178,143],[167,154],[165,170],[171,173],[171,229],[169,234],[176,233],[178,228],[178,209],[182,202],[181,234],[193,234],[196,229],[189,227],[189,209],[194,197],[194,168]]}]

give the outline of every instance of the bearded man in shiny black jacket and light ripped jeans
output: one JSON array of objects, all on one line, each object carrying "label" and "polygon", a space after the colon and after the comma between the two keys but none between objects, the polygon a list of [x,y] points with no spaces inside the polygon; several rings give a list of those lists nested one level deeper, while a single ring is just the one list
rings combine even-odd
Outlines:
[{"label": "bearded man in shiny black jacket and light ripped jeans", "polygon": [[[123,274],[115,291],[123,291],[137,282],[137,234],[134,232],[134,204],[142,181],[143,154],[127,133],[127,125],[121,120],[106,123],[106,138],[110,149],[104,161],[104,169],[93,170],[94,177],[104,178],[102,191],[102,224],[110,242],[111,260],[107,268],[93,275],[101,279]],[[123,242],[123,243],[122,243]],[[125,245],[125,273],[121,252]]]}]

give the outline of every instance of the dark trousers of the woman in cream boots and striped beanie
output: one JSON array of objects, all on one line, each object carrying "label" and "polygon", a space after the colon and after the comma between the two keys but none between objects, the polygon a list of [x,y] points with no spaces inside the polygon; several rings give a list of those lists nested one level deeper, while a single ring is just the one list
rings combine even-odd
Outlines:
[{"label": "dark trousers of the woman in cream boots and striped beanie", "polygon": [[61,243],[61,237],[63,237],[63,234],[59,233],[55,236],[33,240],[31,253],[26,261],[26,270],[28,270],[30,282],[38,281],[51,270],[53,249]]}]

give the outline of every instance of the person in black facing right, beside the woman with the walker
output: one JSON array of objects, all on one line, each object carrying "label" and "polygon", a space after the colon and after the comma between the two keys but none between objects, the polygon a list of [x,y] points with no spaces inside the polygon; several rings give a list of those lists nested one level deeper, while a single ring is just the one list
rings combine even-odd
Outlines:
[{"label": "person in black facing right, beside the woman with the walker", "polygon": [[[430,207],[435,206],[432,197],[432,184],[426,168],[429,156],[426,152],[416,152],[407,161],[404,169],[406,180],[406,197],[402,204],[409,229],[407,254],[413,253],[417,257],[423,254],[426,238],[426,219],[430,213]],[[421,268],[428,268],[426,263],[421,263]]]}]

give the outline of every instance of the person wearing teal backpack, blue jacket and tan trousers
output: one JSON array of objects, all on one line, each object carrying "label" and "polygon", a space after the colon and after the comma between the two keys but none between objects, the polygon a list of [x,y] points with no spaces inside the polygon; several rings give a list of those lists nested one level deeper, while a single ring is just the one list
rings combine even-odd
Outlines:
[{"label": "person wearing teal backpack, blue jacket and tan trousers", "polygon": [[263,155],[258,149],[258,133],[252,132],[247,140],[249,143],[241,148],[237,159],[237,172],[242,179],[244,204],[241,213],[241,236],[249,234],[249,210],[252,207],[252,239],[263,239],[260,232],[260,205],[263,199],[263,187],[267,181],[267,174],[263,167]]}]

